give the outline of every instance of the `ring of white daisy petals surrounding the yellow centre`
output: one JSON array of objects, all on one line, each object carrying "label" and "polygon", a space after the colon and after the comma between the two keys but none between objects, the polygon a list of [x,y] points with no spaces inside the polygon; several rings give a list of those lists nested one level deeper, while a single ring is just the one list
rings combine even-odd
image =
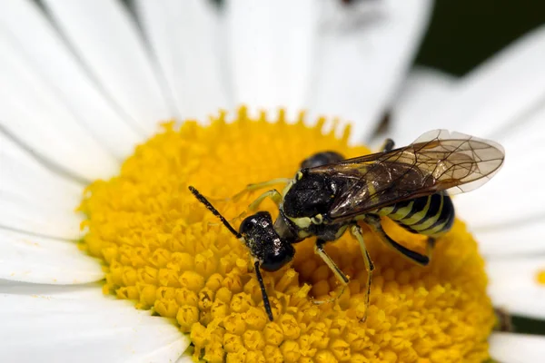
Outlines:
[{"label": "ring of white daisy petals surrounding the yellow centre", "polygon": [[[189,340],[172,322],[107,299],[95,283],[100,263],[74,244],[84,185],[115,175],[157,121],[204,120],[240,103],[339,115],[357,120],[352,135],[371,137],[430,12],[417,0],[350,12],[333,1],[233,1],[219,12],[140,0],[136,23],[115,1],[43,4],[13,0],[0,12],[0,361],[185,359]],[[543,195],[524,192],[519,175],[540,171],[543,49],[541,30],[460,81],[411,74],[393,130],[399,145],[439,127],[504,144],[504,171],[456,202],[490,257],[492,299],[536,318],[545,260],[522,254],[541,251]],[[535,361],[545,338],[503,333],[490,343],[501,361]]]}]

